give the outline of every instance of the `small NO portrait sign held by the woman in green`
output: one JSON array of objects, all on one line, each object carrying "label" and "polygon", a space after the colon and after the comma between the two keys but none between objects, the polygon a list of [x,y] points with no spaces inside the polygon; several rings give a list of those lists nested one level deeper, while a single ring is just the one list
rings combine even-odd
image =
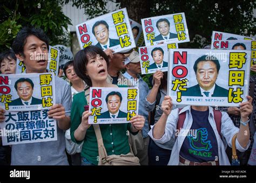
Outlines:
[{"label": "small NO portrait sign held by the woman in green", "polygon": [[138,88],[90,88],[89,124],[129,123],[138,108]]}]

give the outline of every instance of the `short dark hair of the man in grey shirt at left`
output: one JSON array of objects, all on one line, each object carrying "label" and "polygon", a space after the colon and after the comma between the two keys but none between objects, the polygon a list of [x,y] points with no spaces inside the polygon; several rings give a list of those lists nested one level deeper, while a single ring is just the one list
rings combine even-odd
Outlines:
[{"label": "short dark hair of the man in grey shirt at left", "polygon": [[36,36],[38,39],[44,41],[49,50],[49,38],[42,29],[36,29],[35,27],[23,27],[18,32],[14,42],[12,43],[12,49],[16,54],[24,56],[24,45],[26,44],[26,38],[29,36]]}]

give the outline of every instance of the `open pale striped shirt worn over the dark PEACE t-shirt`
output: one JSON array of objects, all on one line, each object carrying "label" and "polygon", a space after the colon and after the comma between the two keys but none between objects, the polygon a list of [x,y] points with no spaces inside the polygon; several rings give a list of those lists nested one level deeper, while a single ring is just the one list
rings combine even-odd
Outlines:
[{"label": "open pale striped shirt worn over the dark PEACE t-shirt", "polygon": [[[174,109],[171,111],[171,114],[167,118],[166,126],[165,126],[165,133],[163,137],[160,139],[155,139],[153,138],[153,130],[154,126],[152,126],[152,129],[149,132],[150,137],[157,143],[166,143],[169,141],[171,138],[175,137],[176,131],[177,131],[177,123],[178,123],[178,116],[182,112],[186,111],[186,119],[183,125],[183,129],[180,130],[179,135],[176,138],[176,142],[174,143],[174,146],[172,148],[172,153],[171,153],[171,158],[168,163],[168,165],[178,165],[179,164],[179,153],[181,146],[184,142],[184,139],[190,130],[192,123],[193,123],[193,118],[191,115],[191,106],[188,105],[184,107],[180,112],[178,109]],[[232,147],[232,137],[238,133],[239,128],[235,127],[232,120],[230,117],[228,117],[226,112],[221,112],[222,117],[221,117],[221,136],[222,139],[219,136],[219,133],[217,131],[217,126],[214,122],[214,116],[213,116],[213,108],[209,107],[209,116],[208,116],[208,121],[212,126],[212,129],[215,133],[216,139],[217,139],[217,144],[218,144],[218,157],[219,157],[219,164],[220,165],[230,165],[230,162],[228,161],[227,154],[225,152],[226,146]],[[244,152],[248,149],[248,146],[250,145],[251,141],[249,140],[246,148],[243,148],[238,140],[235,141],[235,146],[237,147],[237,150]]]}]

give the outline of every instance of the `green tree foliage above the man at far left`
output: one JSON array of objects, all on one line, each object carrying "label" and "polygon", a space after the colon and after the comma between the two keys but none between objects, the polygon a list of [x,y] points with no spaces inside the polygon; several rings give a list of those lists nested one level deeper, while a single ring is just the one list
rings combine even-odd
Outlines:
[{"label": "green tree foliage above the man at far left", "polygon": [[[1,0],[2,1],[2,0]],[[2,1],[0,3],[0,51],[9,48],[22,26],[40,27],[50,38],[50,44],[70,44],[65,33],[71,20],[62,12],[64,1]]]}]

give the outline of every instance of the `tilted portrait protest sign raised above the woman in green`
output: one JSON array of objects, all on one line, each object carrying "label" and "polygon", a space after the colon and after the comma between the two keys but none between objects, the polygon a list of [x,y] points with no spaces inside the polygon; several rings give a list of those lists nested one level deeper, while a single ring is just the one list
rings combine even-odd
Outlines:
[{"label": "tilted portrait protest sign raised above the woman in green", "polygon": [[116,53],[136,47],[126,8],[76,25],[76,32],[81,50],[96,45],[103,50],[111,48]]}]

